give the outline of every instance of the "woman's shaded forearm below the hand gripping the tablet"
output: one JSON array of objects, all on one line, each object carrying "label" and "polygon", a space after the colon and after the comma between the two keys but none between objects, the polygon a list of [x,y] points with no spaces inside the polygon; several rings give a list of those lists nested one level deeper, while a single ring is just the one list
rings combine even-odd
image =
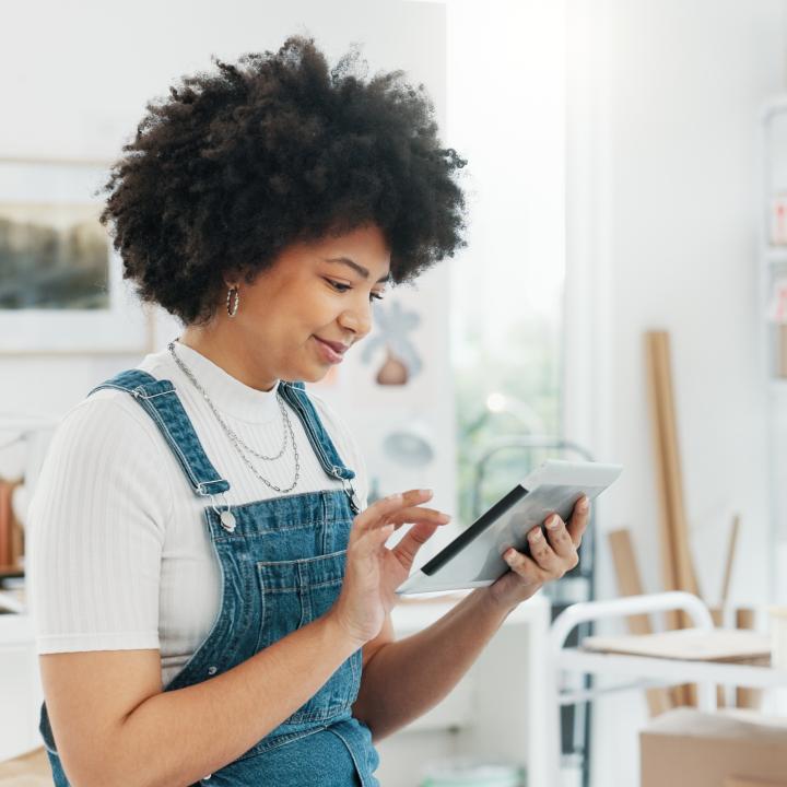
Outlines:
[{"label": "woman's shaded forearm below the hand gripping the tablet", "polygon": [[353,715],[374,740],[422,716],[459,682],[509,611],[479,588],[427,629],[383,646],[364,668]]}]

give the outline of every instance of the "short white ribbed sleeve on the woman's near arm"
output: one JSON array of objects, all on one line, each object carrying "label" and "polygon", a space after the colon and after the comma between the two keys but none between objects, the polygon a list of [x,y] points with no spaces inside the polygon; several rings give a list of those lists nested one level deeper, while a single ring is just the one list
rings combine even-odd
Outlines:
[{"label": "short white ribbed sleeve on the woman's near arm", "polygon": [[158,648],[173,496],[156,437],[136,401],[108,390],[56,431],[27,518],[39,654]]}]

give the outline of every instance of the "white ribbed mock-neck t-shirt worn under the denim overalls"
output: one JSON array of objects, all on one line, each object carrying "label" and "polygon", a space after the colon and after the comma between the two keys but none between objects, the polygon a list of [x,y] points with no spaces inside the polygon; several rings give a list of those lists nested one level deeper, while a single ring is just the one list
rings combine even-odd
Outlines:
[{"label": "white ribbed mock-neck t-shirt worn under the denim overalls", "polygon": [[[183,344],[176,352],[226,425],[255,450],[275,455],[284,428],[275,389],[249,388]],[[168,351],[148,355],[139,368],[172,380],[208,458],[231,484],[231,505],[279,494],[249,470]],[[331,409],[309,396],[355,471],[353,485],[365,507],[357,447]],[[301,465],[290,494],[341,489],[320,467],[298,416],[287,412]],[[292,483],[292,446],[275,461],[251,460],[275,485]],[[219,614],[221,568],[205,505],[133,397],[103,389],[74,407],[55,433],[28,515],[27,583],[38,653],[157,648],[166,684]]]}]

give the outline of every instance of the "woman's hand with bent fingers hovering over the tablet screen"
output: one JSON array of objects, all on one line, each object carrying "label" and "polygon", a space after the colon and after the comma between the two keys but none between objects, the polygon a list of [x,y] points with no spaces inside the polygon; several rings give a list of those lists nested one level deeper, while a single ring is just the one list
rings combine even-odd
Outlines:
[{"label": "woman's hand with bent fingers hovering over the tablet screen", "polygon": [[[348,542],[344,580],[329,614],[359,646],[374,639],[396,603],[396,589],[410,575],[419,549],[435,530],[450,521],[447,514],[422,504],[431,490],[410,490],[376,501],[353,521]],[[402,525],[413,527],[392,549],[385,543]]]}]

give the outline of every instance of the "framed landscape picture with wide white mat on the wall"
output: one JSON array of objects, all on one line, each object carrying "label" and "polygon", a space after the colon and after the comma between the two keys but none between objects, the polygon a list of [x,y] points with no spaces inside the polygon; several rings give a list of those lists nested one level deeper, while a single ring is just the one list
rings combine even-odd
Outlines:
[{"label": "framed landscape picture with wide white mat on the wall", "polygon": [[149,310],[98,222],[109,164],[0,158],[0,353],[138,353]]}]

